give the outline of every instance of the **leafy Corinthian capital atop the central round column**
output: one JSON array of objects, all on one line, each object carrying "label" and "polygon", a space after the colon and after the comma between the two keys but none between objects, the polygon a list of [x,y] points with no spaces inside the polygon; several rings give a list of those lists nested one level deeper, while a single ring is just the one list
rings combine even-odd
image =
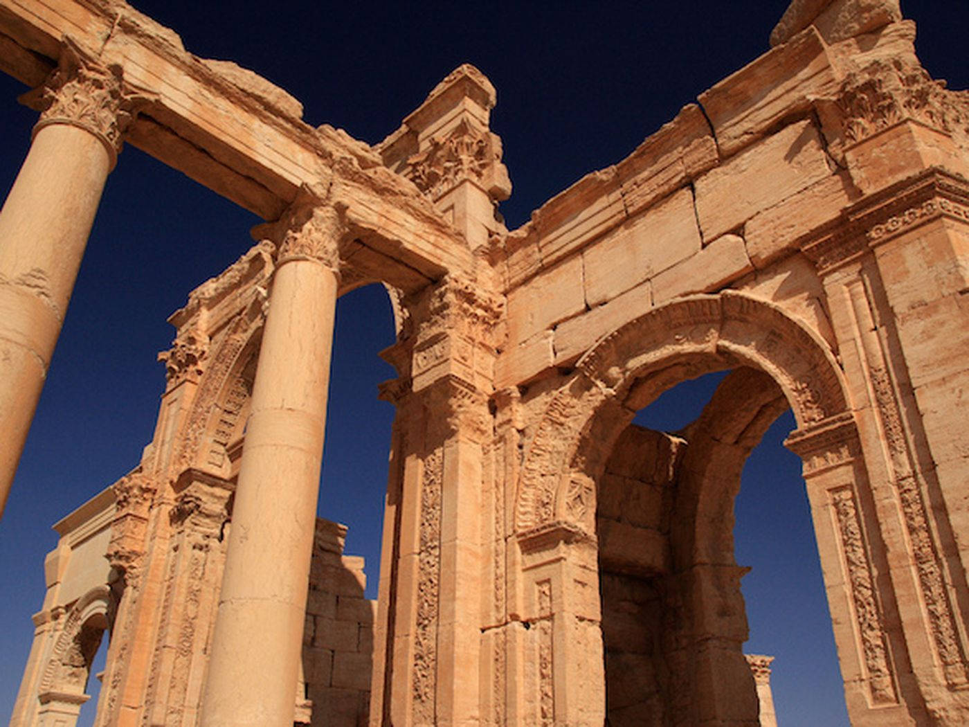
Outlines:
[{"label": "leafy Corinthian capital atop the central round column", "polygon": [[307,184],[276,222],[253,228],[253,237],[274,242],[277,267],[291,260],[316,260],[339,274],[340,240],[347,234],[342,210]]}]

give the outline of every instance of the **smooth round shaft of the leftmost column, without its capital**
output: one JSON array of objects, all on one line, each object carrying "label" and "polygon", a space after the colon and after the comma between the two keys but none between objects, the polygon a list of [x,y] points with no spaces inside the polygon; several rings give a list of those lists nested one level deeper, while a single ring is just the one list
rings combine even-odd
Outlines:
[{"label": "smooth round shaft of the leftmost column, without its capital", "polygon": [[112,161],[89,131],[44,126],[0,210],[0,516]]}]

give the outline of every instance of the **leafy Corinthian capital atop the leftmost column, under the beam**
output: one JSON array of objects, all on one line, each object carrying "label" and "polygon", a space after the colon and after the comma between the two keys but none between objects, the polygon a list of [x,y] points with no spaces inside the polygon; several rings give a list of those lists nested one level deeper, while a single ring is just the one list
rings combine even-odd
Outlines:
[{"label": "leafy Corinthian capital atop the leftmost column, under the beam", "polygon": [[102,65],[93,53],[65,36],[57,68],[44,85],[20,100],[41,111],[34,136],[51,124],[77,126],[105,145],[113,169],[124,133],[149,95],[123,81],[121,66]]}]

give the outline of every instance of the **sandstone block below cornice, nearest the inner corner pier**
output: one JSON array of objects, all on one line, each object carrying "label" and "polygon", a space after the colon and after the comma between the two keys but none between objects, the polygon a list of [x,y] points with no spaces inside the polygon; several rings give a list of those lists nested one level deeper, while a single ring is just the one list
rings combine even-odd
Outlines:
[{"label": "sandstone block below cornice, nearest the inner corner pier", "polygon": [[517,345],[584,309],[582,258],[576,255],[508,294],[509,342]]}]

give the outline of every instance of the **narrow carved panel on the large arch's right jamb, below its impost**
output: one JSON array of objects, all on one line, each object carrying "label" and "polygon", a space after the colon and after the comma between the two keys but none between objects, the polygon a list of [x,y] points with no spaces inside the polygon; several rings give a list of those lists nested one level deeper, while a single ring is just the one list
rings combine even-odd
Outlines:
[{"label": "narrow carved panel on the large arch's right jamb, below its impost", "polygon": [[896,704],[888,640],[884,620],[875,598],[871,564],[861,534],[855,492],[850,486],[830,490],[841,553],[845,559],[847,585],[855,610],[855,623],[868,688],[875,704]]}]

